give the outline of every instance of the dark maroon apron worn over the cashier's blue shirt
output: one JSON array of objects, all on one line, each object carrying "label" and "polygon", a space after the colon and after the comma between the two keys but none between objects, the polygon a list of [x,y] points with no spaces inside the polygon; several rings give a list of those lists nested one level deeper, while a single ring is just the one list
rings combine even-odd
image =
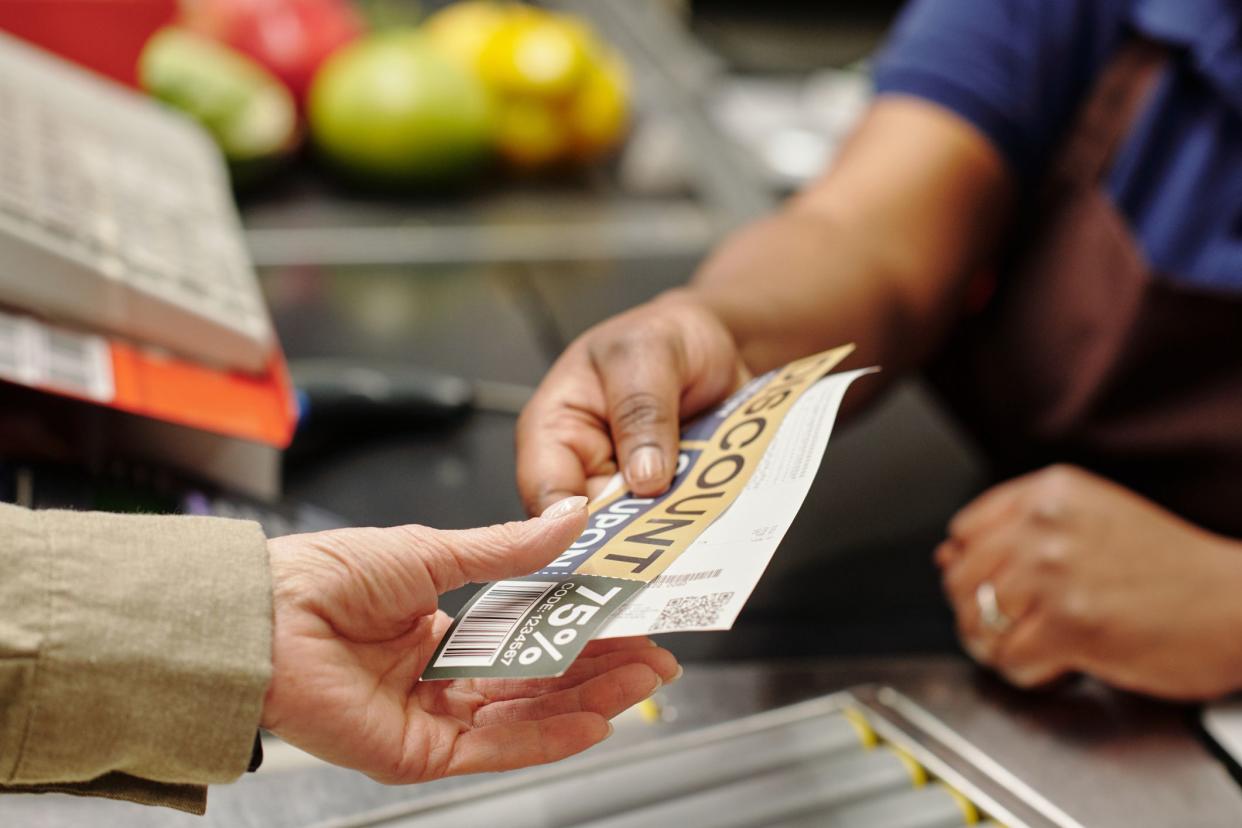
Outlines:
[{"label": "dark maroon apron worn over the cashier's blue shirt", "polygon": [[1074,463],[1242,536],[1242,295],[1153,272],[1103,187],[1164,63],[1143,41],[1117,52],[932,377],[999,474]]}]

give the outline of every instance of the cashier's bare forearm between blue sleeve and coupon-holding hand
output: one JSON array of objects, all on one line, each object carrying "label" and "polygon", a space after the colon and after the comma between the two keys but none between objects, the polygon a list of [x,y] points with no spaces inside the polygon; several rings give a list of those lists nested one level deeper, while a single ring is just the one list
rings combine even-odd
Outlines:
[{"label": "cashier's bare forearm between blue sleeve and coupon-holding hand", "polygon": [[822,180],[730,238],[689,292],[724,320],[751,370],[854,341],[861,361],[895,372],[955,319],[995,254],[1011,189],[969,124],[886,99]]}]

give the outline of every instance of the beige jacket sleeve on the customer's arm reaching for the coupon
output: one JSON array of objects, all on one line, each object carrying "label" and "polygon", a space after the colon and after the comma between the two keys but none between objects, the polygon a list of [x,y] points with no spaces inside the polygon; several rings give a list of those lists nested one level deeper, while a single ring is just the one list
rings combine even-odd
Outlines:
[{"label": "beige jacket sleeve on the customer's arm reaching for the coupon", "polygon": [[271,677],[257,524],[0,504],[0,790],[202,812]]}]

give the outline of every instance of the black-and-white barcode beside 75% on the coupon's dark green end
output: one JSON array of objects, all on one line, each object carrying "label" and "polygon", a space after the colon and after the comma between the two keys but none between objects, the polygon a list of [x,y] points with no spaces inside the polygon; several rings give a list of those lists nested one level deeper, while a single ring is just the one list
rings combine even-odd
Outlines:
[{"label": "black-and-white barcode beside 75% on the coupon's dark green end", "polygon": [[504,642],[558,581],[498,581],[469,606],[432,667],[491,667]]}]

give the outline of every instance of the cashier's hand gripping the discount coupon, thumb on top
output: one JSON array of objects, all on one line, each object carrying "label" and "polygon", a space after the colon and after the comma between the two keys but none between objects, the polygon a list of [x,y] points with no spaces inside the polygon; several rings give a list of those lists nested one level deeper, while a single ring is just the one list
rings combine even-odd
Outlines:
[{"label": "cashier's hand gripping the discount coupon, thumb on top", "polygon": [[530,514],[594,495],[620,470],[642,497],[668,488],[681,422],[746,379],[724,324],[676,290],[591,328],[556,360],[518,421]]}]

